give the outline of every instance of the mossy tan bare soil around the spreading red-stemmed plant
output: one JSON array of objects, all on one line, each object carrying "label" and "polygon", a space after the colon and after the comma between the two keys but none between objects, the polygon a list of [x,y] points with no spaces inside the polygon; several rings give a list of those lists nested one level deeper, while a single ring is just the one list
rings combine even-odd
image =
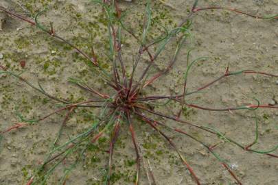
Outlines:
[{"label": "mossy tan bare soil around the spreading red-stemmed plant", "polygon": [[[133,28],[134,32],[139,31],[139,24],[142,24],[143,3],[142,1],[131,3],[120,1],[121,9],[128,12],[126,23],[128,27]],[[165,3],[153,1],[153,17],[161,25],[170,29],[187,15],[187,10],[190,10],[192,3],[193,1],[181,0],[167,0]],[[40,10],[49,8],[40,18],[43,23],[49,25],[49,21],[54,22],[54,28],[60,36],[71,40],[88,53],[90,46],[94,45],[97,53],[100,53],[100,58],[105,61],[104,53],[107,47],[105,48],[104,44],[107,43],[107,34],[106,27],[102,23],[104,14],[99,5],[89,0],[0,0],[0,5],[27,17],[34,17]],[[278,12],[277,0],[199,1],[198,3],[198,7],[209,5],[238,8],[258,15]],[[69,84],[68,77],[82,77],[92,86],[106,90],[105,84],[102,84],[97,75],[89,70],[82,57],[75,51],[17,18],[2,12],[0,18],[2,29],[0,53],[3,53],[3,59],[0,59],[1,65],[14,73],[22,73],[23,77],[35,85],[40,80],[47,93],[72,101],[80,101],[91,95]],[[278,74],[277,21],[256,20],[222,10],[198,12],[193,20],[192,43],[188,41],[172,72],[148,88],[146,95],[181,93],[186,53],[193,47],[192,60],[202,56],[209,59],[198,63],[192,69],[188,82],[188,88],[191,90],[222,75],[228,64],[231,71],[254,69]],[[154,36],[158,34],[154,32],[155,30],[159,32],[159,29],[154,29],[152,32]],[[131,66],[132,58],[137,54],[138,44],[126,36],[123,47],[126,64]],[[168,54],[173,52],[173,49],[173,47],[167,48],[159,58],[154,71],[167,66]],[[22,60],[26,61],[24,69],[19,64]],[[106,66],[109,70],[110,64],[107,63]],[[146,66],[144,61],[139,66],[137,75],[143,70],[143,66]],[[215,108],[256,103],[253,97],[259,99],[261,103],[270,103],[275,99],[278,101],[278,86],[275,84],[277,80],[257,75],[230,77],[211,86],[205,90],[205,93],[189,96],[187,101]],[[47,114],[56,106],[55,102],[34,92],[32,88],[14,77],[0,75],[0,130],[5,130],[19,122],[16,108],[27,119],[33,119]],[[155,109],[168,114],[174,114],[178,110],[174,105],[170,105],[169,108]],[[188,109],[184,113],[183,119],[218,128],[227,136],[240,141],[242,145],[248,145],[255,137],[253,112],[242,110],[231,114]],[[82,115],[82,111],[77,110],[76,116],[71,117],[63,134],[64,141],[90,126],[90,118],[84,118]],[[257,116],[259,143],[254,149],[271,149],[278,143],[278,112],[264,109],[257,111]],[[1,185],[26,184],[27,178],[32,176],[34,169],[49,151],[61,121],[62,116],[54,115],[43,122],[14,130],[3,136],[0,143]],[[178,125],[172,121],[165,121],[165,123],[181,127],[207,143],[216,144],[220,140],[186,125]],[[150,160],[157,184],[195,184],[178,156],[163,138],[139,121],[136,132],[142,153]],[[228,171],[201,145],[185,136],[169,134],[194,168],[196,175],[200,177],[202,184],[235,184]],[[92,149],[85,153],[84,160],[72,171],[67,184],[101,184],[108,159],[108,153],[105,151],[108,149],[108,140],[102,140],[98,146],[100,149],[97,151]],[[243,151],[231,143],[222,143],[215,151],[228,160],[243,184],[278,184],[277,159]],[[278,154],[277,151],[275,153]],[[135,153],[128,127],[121,130],[114,156],[115,184],[132,184],[135,175]],[[71,162],[71,159],[68,162]],[[58,178],[63,173],[62,169],[63,167],[58,167],[48,184],[57,184]],[[146,175],[143,175],[142,184],[148,184]]]}]

